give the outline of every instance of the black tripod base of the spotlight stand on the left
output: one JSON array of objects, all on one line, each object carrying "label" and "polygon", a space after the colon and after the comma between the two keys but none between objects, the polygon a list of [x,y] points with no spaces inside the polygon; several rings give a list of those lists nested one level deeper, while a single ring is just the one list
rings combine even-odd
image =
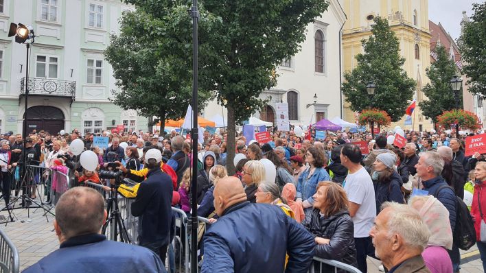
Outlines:
[{"label": "black tripod base of the spotlight stand on the left", "polygon": [[[47,222],[49,222],[49,218],[47,218],[47,213],[50,213],[52,216],[55,216],[54,213],[51,213],[50,211],[45,209],[45,207],[42,204],[40,204],[39,202],[37,202],[36,200],[30,197],[30,187],[32,187],[34,183],[35,183],[34,171],[32,170],[32,167],[30,167],[30,165],[26,164],[24,165],[24,174],[19,185],[20,187],[16,187],[15,189],[16,197],[12,202],[10,202],[10,204],[8,204],[7,209],[9,206],[12,206],[13,209],[27,208],[27,222],[30,222],[30,206],[32,204],[36,204],[35,206],[36,208],[42,208],[44,210],[45,219],[47,220]],[[22,195],[19,195],[20,189],[22,189]],[[36,187],[36,191],[37,194],[40,196],[40,191],[38,187]],[[23,205],[21,207],[20,206],[15,207],[15,204],[19,199],[22,199]],[[11,222],[13,222],[14,219],[12,218],[12,215],[10,213],[9,215],[10,215]]]}]

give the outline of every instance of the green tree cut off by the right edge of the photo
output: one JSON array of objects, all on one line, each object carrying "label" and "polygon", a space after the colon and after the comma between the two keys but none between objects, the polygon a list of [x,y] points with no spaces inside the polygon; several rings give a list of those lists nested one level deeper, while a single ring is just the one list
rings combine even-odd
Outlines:
[{"label": "green tree cut off by the right edge of the photo", "polygon": [[465,23],[459,47],[465,62],[463,73],[472,94],[486,99],[486,3],[473,3],[474,14]]}]

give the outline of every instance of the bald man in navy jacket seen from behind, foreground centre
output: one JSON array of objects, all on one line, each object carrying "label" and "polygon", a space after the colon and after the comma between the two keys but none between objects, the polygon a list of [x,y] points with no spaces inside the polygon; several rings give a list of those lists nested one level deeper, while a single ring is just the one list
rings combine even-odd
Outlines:
[{"label": "bald man in navy jacket seen from behind, foreground centre", "polygon": [[219,180],[213,196],[220,218],[205,234],[201,272],[308,272],[315,243],[301,224],[278,206],[248,202],[235,177]]}]

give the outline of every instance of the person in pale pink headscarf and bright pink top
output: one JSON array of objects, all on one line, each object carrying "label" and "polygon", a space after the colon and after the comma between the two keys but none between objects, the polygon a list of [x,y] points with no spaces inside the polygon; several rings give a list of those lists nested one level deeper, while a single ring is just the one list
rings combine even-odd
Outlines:
[{"label": "person in pale pink headscarf and bright pink top", "polygon": [[414,196],[408,205],[419,212],[430,230],[430,238],[422,257],[432,273],[452,272],[447,250],[452,249],[449,211],[432,195]]}]

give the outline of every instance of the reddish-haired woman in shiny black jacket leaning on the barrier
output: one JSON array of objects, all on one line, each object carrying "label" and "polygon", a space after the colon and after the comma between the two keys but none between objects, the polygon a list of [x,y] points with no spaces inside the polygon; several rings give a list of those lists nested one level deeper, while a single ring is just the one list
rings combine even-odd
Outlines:
[{"label": "reddish-haired woman in shiny black jacket leaning on the barrier", "polygon": [[[306,215],[303,225],[315,237],[315,256],[356,267],[354,224],[343,187],[331,181],[319,182],[312,199],[312,213]],[[334,270],[321,269],[321,272],[331,271]]]}]

